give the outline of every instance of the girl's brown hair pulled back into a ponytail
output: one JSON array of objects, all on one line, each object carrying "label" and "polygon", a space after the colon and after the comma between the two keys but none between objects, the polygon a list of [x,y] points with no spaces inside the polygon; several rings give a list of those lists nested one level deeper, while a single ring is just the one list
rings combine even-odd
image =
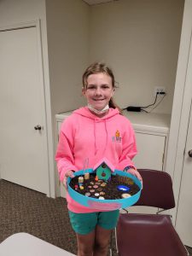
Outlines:
[{"label": "girl's brown hair pulled back into a ponytail", "polygon": [[[90,64],[89,67],[86,68],[83,74],[83,89],[86,90],[87,88],[87,79],[91,74],[94,73],[106,73],[109,77],[112,79],[112,86],[113,88],[117,88],[115,85],[114,75],[113,71],[110,67],[108,67],[105,63],[102,62],[94,62]],[[119,106],[114,102],[113,97],[111,97],[110,101],[108,102],[109,108],[118,108],[119,113],[122,113],[122,110],[119,108]]]}]

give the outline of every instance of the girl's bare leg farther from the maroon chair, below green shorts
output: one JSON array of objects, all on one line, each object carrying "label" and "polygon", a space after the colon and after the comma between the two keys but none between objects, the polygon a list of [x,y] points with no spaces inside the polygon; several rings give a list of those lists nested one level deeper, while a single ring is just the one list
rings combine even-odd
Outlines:
[{"label": "girl's bare leg farther from the maroon chair, below green shorts", "polygon": [[[77,234],[78,256],[92,256],[95,244],[95,230],[87,235]],[[102,256],[102,254],[100,254]]]}]

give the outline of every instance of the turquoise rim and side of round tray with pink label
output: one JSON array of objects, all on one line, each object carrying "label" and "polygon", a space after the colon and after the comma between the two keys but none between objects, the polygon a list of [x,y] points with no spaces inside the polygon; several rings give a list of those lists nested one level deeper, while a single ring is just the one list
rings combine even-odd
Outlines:
[{"label": "turquoise rim and side of round tray with pink label", "polygon": [[[86,172],[91,173],[93,172],[93,170],[88,169],[86,170]],[[96,210],[113,211],[120,208],[131,207],[138,201],[141,195],[142,183],[137,179],[137,177],[131,175],[128,172],[114,170],[112,175],[116,175],[116,174],[123,177],[131,177],[134,183],[136,183],[137,186],[139,187],[139,191],[137,192],[137,194],[131,195],[128,198],[115,199],[115,200],[100,200],[100,199],[88,197],[88,196],[79,194],[77,191],[75,191],[69,186],[71,177],[67,178],[68,193],[73,198],[74,201],[79,202],[79,204],[83,205],[84,207],[90,207]],[[74,172],[74,176],[80,176],[80,175],[84,175],[84,171]]]}]

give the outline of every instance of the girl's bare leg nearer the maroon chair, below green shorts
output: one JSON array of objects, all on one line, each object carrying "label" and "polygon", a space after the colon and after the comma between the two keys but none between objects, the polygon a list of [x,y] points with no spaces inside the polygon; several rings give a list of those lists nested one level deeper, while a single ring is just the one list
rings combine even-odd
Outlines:
[{"label": "girl's bare leg nearer the maroon chair, below green shorts", "polygon": [[96,225],[96,238],[93,256],[107,256],[108,246],[111,239],[112,230],[105,230]]}]

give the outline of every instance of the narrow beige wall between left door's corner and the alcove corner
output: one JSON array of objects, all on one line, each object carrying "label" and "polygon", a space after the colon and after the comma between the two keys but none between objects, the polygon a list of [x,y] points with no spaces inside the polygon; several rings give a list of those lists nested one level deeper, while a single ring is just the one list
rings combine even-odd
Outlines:
[{"label": "narrow beige wall between left door's corner and the alcove corner", "polygon": [[89,11],[82,0],[46,0],[53,118],[84,104],[81,76],[88,64]]}]

